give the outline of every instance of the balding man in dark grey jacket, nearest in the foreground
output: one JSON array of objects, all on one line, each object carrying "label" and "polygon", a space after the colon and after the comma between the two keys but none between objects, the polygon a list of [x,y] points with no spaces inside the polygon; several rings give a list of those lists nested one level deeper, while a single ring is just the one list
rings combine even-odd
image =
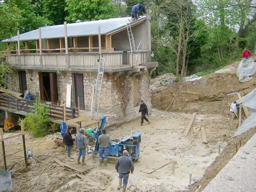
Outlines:
[{"label": "balding man in dark grey jacket, nearest in the foreground", "polygon": [[120,190],[122,188],[122,179],[123,179],[123,192],[126,191],[126,186],[128,183],[129,174],[133,174],[134,171],[134,165],[132,162],[132,159],[128,157],[128,151],[124,150],[123,155],[118,158],[116,161],[116,172],[118,172],[118,178],[119,178],[119,186],[117,187],[117,190]]}]

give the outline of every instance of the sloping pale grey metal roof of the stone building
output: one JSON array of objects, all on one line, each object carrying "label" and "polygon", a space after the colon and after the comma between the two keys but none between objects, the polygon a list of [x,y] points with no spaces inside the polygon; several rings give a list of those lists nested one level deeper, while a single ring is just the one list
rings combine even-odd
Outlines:
[{"label": "sloping pale grey metal roof of the stone building", "polygon": [[[123,18],[112,18],[112,19],[67,24],[68,37],[97,35],[98,26],[100,26],[101,34],[108,35],[108,34],[111,34],[112,32],[125,28],[126,22],[129,19],[130,17],[123,17]],[[142,20],[145,20],[145,19],[146,19],[146,16],[142,16],[138,20],[131,22],[131,25],[141,22]],[[42,27],[41,36],[42,36],[42,39],[63,38],[65,36],[64,24]],[[38,29],[30,32],[26,32],[24,34],[20,34],[20,41],[38,40],[38,39],[39,39]],[[17,42],[17,41],[18,41],[18,36],[14,36],[12,38],[2,40],[1,42]]]}]

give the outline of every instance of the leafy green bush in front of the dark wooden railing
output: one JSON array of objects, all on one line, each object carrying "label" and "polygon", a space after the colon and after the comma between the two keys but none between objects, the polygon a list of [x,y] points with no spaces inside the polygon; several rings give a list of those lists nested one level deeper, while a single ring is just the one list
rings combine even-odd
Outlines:
[{"label": "leafy green bush in front of the dark wooden railing", "polygon": [[[50,122],[48,114],[50,108],[46,104],[40,104],[40,100],[36,98],[32,112],[23,119],[24,130],[31,131],[34,137],[43,137],[50,132],[57,130],[57,126]],[[19,124],[22,119],[19,118]]]}]

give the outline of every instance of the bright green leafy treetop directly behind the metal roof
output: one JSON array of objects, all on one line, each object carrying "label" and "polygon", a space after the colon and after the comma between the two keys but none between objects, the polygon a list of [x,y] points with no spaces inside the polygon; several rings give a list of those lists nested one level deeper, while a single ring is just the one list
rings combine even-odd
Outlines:
[{"label": "bright green leafy treetop directly behind the metal roof", "polygon": [[66,0],[66,5],[68,22],[76,22],[78,19],[82,21],[108,19],[117,16],[117,8],[111,0]]}]

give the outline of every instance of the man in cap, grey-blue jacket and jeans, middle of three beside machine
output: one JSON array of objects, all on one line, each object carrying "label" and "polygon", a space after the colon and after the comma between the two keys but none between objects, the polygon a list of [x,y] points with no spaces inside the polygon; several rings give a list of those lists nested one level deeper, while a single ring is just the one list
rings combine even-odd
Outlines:
[{"label": "man in cap, grey-blue jacket and jeans, middle of three beside machine", "polygon": [[87,138],[84,136],[84,128],[79,129],[79,134],[76,135],[75,143],[76,147],[78,148],[77,163],[80,164],[80,158],[82,156],[82,165],[86,165],[84,159],[86,155],[86,146],[88,146],[89,142]]}]

